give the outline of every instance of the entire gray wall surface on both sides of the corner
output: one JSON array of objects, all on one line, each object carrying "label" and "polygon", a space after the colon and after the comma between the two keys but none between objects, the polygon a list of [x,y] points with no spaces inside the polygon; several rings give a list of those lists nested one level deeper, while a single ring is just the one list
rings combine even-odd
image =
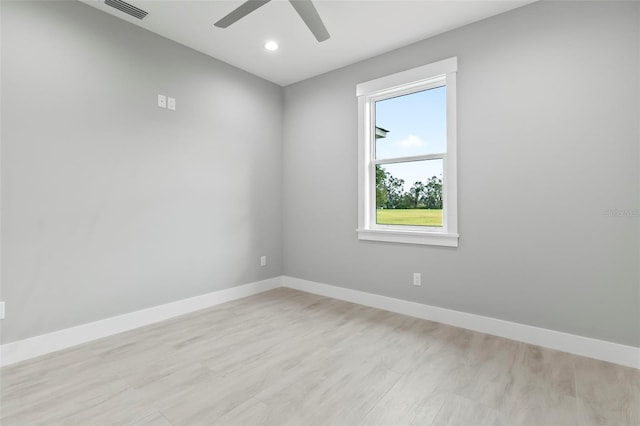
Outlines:
[{"label": "entire gray wall surface on both sides of the corner", "polygon": [[[640,346],[640,218],[604,214],[639,207],[640,4],[536,3],[284,90],[1,4],[2,343],[284,273]],[[460,246],[358,242],[355,85],[454,55]]]}]

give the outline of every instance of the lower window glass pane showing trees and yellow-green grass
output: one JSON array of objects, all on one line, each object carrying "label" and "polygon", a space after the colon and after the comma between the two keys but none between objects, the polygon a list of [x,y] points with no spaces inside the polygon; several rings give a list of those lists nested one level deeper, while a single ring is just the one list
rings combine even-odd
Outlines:
[{"label": "lower window glass pane showing trees and yellow-green grass", "polygon": [[443,160],[376,166],[376,223],[442,227]]}]

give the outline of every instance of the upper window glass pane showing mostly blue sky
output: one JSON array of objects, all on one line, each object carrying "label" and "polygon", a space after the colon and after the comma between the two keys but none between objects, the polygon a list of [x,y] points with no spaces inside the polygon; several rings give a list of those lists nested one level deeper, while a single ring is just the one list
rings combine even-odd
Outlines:
[{"label": "upper window glass pane showing mostly blue sky", "polygon": [[376,159],[447,149],[446,86],[377,101]]}]

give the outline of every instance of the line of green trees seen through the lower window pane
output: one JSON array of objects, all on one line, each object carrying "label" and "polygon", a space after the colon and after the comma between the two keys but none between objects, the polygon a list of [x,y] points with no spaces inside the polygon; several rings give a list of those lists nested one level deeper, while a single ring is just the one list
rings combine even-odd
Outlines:
[{"label": "line of green trees seen through the lower window pane", "polygon": [[442,179],[432,176],[426,182],[415,182],[405,191],[404,179],[376,165],[376,208],[442,209]]}]

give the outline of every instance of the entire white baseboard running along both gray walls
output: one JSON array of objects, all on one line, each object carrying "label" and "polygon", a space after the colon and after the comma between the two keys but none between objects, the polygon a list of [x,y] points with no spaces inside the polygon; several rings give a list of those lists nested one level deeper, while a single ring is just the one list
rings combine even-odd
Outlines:
[{"label": "entire white baseboard running along both gray walls", "polygon": [[640,368],[640,348],[637,347],[287,276],[214,291],[201,296],[0,345],[0,366],[14,364],[278,287],[306,291],[628,367]]}]

